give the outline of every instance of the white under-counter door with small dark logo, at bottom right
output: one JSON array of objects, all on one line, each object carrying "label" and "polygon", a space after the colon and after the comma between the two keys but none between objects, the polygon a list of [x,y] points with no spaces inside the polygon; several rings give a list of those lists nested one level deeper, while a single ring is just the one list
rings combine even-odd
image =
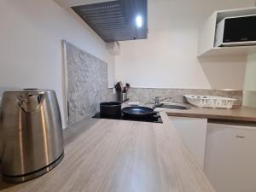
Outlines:
[{"label": "white under-counter door with small dark logo, at bottom right", "polygon": [[255,192],[256,127],[208,124],[205,172],[218,192]]}]

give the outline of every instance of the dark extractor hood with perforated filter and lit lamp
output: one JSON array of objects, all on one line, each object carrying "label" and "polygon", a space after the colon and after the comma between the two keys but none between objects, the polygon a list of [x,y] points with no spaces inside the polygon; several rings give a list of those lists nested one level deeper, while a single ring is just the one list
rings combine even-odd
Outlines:
[{"label": "dark extractor hood with perforated filter and lit lamp", "polygon": [[105,42],[148,38],[147,0],[116,0],[72,9]]}]

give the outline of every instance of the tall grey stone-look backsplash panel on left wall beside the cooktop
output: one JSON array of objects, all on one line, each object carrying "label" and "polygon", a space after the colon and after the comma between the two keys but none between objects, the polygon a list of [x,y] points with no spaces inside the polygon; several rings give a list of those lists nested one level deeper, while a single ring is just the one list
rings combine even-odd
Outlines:
[{"label": "tall grey stone-look backsplash panel on left wall beside the cooktop", "polygon": [[108,89],[108,64],[67,43],[69,125],[93,116],[100,102],[113,101]]}]

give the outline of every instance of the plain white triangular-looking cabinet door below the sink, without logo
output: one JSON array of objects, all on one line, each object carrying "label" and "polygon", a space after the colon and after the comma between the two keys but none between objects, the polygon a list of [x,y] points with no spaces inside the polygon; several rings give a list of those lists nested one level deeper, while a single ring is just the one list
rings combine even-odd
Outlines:
[{"label": "plain white triangular-looking cabinet door below the sink, without logo", "polygon": [[183,142],[194,154],[201,168],[204,168],[205,146],[207,137],[207,119],[172,117],[171,122],[177,129]]}]

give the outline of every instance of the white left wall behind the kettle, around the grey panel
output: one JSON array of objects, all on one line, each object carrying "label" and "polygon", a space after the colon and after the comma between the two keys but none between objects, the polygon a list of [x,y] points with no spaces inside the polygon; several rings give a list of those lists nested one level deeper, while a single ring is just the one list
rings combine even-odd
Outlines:
[{"label": "white left wall behind the kettle, around the grey panel", "polygon": [[[57,93],[63,119],[61,39],[109,63],[105,43],[71,10],[53,0],[0,1],[0,88],[37,87]],[[65,125],[64,125],[65,126]]]}]

